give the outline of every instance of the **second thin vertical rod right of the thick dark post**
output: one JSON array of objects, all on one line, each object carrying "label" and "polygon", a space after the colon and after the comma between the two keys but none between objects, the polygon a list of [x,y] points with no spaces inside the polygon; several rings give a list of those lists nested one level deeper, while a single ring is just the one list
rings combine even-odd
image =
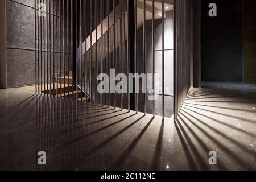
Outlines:
[{"label": "second thin vertical rod right of the thick dark post", "polygon": [[[143,2],[143,73],[146,74],[146,0]],[[146,81],[143,83],[144,90],[146,89]],[[146,114],[146,99],[147,94],[144,93],[144,115]]]}]

